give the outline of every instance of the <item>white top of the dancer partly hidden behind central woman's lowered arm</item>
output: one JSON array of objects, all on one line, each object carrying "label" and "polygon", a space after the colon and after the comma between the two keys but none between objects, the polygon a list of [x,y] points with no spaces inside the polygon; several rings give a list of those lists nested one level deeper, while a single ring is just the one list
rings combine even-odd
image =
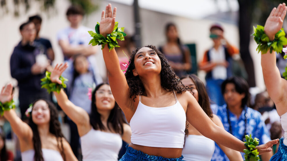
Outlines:
[{"label": "white top of the dancer partly hidden behind central woman's lowered arm", "polygon": [[214,141],[202,135],[187,135],[182,150],[184,161],[210,161],[215,150]]}]

